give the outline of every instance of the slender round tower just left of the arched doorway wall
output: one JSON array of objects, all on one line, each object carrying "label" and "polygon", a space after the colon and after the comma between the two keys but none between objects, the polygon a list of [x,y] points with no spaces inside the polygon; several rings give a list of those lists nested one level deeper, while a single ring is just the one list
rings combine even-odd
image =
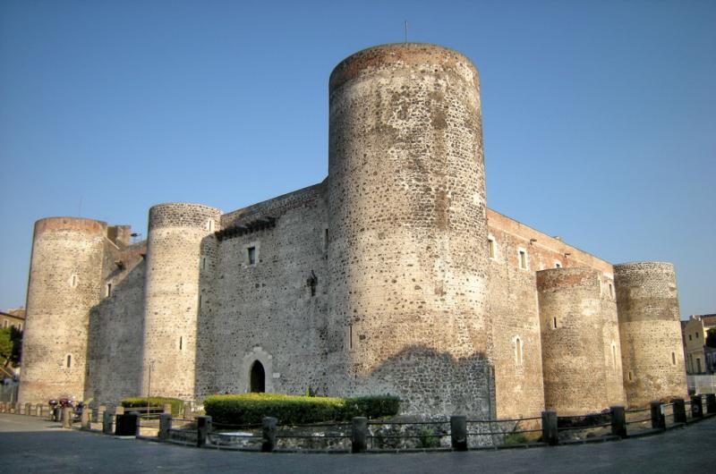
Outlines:
[{"label": "slender round tower just left of the arched doorway wall", "polygon": [[149,209],[142,395],[194,398],[201,251],[215,239],[220,216],[200,204]]}]

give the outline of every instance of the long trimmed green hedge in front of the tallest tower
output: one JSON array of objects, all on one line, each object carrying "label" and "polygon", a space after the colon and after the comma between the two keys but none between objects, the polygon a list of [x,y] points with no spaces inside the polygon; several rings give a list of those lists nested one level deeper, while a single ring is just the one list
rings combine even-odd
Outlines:
[{"label": "long trimmed green hedge in front of the tallest tower", "polygon": [[263,417],[279,424],[297,425],[320,421],[347,421],[353,417],[379,418],[396,415],[397,397],[307,397],[284,394],[213,395],[204,400],[212,421],[227,425],[252,425]]}]

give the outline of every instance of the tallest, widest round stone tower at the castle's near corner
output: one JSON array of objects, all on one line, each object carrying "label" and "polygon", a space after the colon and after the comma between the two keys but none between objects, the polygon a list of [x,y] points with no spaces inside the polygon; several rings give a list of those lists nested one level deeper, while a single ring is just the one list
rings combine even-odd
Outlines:
[{"label": "tallest, widest round stone tower at the castle's near corner", "polygon": [[328,386],[487,413],[480,83],[445,47],[346,58],[329,83]]}]

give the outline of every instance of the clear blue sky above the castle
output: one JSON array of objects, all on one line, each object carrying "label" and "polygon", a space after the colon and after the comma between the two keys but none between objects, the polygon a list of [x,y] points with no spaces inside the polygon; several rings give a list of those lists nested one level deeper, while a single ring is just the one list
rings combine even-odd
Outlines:
[{"label": "clear blue sky above the castle", "polygon": [[363,47],[482,77],[488,204],[612,263],[677,267],[716,312],[716,2],[0,2],[0,309],[32,225],[224,211],[323,180],[328,74]]}]

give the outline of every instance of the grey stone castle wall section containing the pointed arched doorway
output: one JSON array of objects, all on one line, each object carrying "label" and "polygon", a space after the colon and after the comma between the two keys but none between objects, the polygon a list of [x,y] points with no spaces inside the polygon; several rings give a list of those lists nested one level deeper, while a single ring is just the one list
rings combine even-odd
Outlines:
[{"label": "grey stone castle wall section containing the pointed arched doorway", "polygon": [[[259,361],[269,392],[304,394],[307,387],[330,393],[326,384],[328,269],[327,206],[321,185],[312,186],[224,216],[225,225],[271,216],[276,226],[224,238],[211,261],[214,292],[206,326],[213,342],[206,367],[216,371],[213,391],[250,389],[251,365]],[[250,265],[247,249],[256,249]],[[315,295],[307,284],[318,281]],[[201,325],[200,325],[201,327]],[[206,344],[204,344],[206,343]],[[212,392],[211,385],[204,393]]]}]

